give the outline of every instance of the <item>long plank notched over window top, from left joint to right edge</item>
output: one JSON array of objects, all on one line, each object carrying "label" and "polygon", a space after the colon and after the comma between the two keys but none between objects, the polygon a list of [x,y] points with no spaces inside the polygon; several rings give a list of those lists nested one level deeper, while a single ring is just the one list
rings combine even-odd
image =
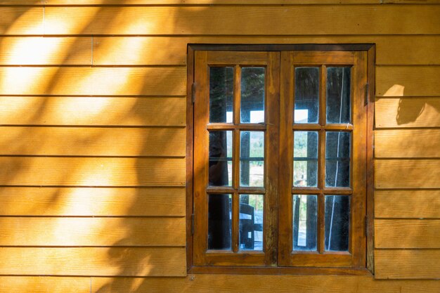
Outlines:
[{"label": "long plank notched over window top, from left joint to right edge", "polygon": [[[184,65],[188,44],[376,44],[377,65],[439,65],[440,36],[93,37],[95,65]],[[418,44],[418,46],[414,46]],[[167,48],[164,50],[164,48]],[[401,48],[396,51],[396,48]],[[141,53],[137,53],[141,52]],[[147,53],[148,52],[148,53]]]}]

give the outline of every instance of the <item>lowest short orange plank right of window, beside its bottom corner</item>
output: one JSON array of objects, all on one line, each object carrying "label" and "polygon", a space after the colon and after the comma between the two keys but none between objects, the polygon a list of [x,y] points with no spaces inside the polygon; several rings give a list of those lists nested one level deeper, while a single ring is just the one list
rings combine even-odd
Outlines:
[{"label": "lowest short orange plank right of window, beside its bottom corner", "polygon": [[375,277],[377,279],[438,279],[440,250],[376,249]]}]

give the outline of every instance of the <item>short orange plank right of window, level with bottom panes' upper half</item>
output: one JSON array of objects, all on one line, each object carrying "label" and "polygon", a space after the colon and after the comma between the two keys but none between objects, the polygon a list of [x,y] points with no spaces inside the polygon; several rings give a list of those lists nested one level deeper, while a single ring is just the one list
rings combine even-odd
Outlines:
[{"label": "short orange plank right of window, level with bottom panes' upper half", "polygon": [[440,218],[440,190],[375,190],[377,218]]}]

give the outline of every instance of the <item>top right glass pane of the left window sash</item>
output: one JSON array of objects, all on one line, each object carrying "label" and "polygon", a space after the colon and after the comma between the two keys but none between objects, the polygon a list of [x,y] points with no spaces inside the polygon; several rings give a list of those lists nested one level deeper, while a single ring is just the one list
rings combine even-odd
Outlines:
[{"label": "top right glass pane of the left window sash", "polygon": [[241,69],[241,123],[264,122],[264,67]]}]

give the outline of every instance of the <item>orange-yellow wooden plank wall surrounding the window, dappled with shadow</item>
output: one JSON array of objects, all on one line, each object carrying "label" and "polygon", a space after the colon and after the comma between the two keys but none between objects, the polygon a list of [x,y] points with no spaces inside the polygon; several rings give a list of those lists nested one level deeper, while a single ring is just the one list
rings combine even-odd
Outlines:
[{"label": "orange-yellow wooden plank wall surrounding the window, dappled with shadow", "polygon": [[[0,292],[439,290],[440,1],[237,2],[0,0]],[[190,43],[376,44],[375,278],[418,280],[186,275]]]}]

